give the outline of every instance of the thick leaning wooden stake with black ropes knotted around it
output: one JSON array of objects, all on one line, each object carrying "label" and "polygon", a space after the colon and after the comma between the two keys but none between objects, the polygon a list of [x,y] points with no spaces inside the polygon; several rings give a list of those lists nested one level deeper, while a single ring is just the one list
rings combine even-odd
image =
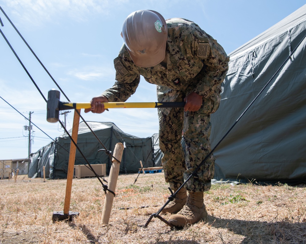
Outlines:
[{"label": "thick leaning wooden stake with black ropes knotted around it", "polygon": [[[113,156],[121,161],[122,154],[123,154],[123,144],[122,143],[117,143],[115,145],[114,149],[114,154]],[[112,192],[115,192],[116,190],[116,185],[117,185],[117,180],[118,180],[118,175],[119,175],[119,170],[120,170],[120,163],[113,158],[112,160],[112,167],[110,168],[110,176],[108,179],[108,184],[107,188],[111,190]],[[104,207],[103,207],[103,213],[102,213],[102,220],[101,224],[108,224],[110,220],[110,211],[112,210],[113,206],[113,201],[114,201],[114,194],[106,191],[106,196],[105,196],[105,201],[104,201]]]}]

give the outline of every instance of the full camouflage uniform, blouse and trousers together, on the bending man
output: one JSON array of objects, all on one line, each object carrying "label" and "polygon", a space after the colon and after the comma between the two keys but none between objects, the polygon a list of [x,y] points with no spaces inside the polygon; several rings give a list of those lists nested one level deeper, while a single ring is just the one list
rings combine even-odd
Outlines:
[{"label": "full camouflage uniform, blouse and trousers together, on the bending man", "polygon": [[[165,179],[177,190],[211,151],[210,114],[220,103],[221,84],[228,70],[229,57],[224,49],[196,23],[174,18],[166,20],[168,27],[167,64],[149,68],[136,66],[123,45],[114,59],[116,82],[103,92],[109,102],[125,102],[140,82],[140,75],[157,85],[159,102],[181,102],[196,92],[203,96],[203,108],[184,112],[182,108],[159,109],[159,145],[164,153],[162,166]],[[182,137],[183,133],[183,137]],[[181,139],[185,144],[185,156]],[[195,177],[185,185],[193,192],[208,191],[214,176],[214,156],[211,156]],[[187,168],[186,168],[187,167]]]}]

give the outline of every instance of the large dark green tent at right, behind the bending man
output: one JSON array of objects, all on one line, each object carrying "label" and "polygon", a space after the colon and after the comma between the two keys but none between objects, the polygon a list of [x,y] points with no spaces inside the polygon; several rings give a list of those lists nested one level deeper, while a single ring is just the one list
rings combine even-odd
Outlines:
[{"label": "large dark green tent at right, behind the bending man", "polygon": [[306,5],[229,54],[222,101],[211,116],[212,148],[297,48],[217,146],[215,179],[306,179],[305,35]]}]

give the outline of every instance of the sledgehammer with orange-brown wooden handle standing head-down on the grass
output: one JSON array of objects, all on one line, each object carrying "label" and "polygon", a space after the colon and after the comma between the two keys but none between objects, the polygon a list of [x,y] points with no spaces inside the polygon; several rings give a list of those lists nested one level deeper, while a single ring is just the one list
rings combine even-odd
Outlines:
[{"label": "sledgehammer with orange-brown wooden handle standing head-down on the grass", "polygon": [[[81,110],[79,109],[77,111],[80,113]],[[72,139],[75,143],[77,142],[77,136],[78,136],[78,132],[79,132],[79,123],[80,123],[80,115],[76,111],[74,111],[71,137],[72,137]],[[78,212],[69,211],[75,156],[76,156],[76,146],[71,141],[69,161],[68,161],[68,172],[67,172],[67,184],[66,184],[64,211],[53,212],[53,215],[52,215],[52,220],[53,221],[63,221],[63,220],[72,221],[74,216],[79,215]]]}]

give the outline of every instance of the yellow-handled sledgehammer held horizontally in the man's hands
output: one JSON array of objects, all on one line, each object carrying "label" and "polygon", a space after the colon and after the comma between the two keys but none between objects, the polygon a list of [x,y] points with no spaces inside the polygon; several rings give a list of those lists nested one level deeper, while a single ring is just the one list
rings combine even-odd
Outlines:
[{"label": "yellow-handled sledgehammer held horizontally in the man's hands", "polygon": [[[183,108],[185,102],[103,102],[105,109],[110,108]],[[60,92],[48,91],[47,121],[58,122],[59,111],[67,109],[89,109],[90,102],[60,102]]]}]

